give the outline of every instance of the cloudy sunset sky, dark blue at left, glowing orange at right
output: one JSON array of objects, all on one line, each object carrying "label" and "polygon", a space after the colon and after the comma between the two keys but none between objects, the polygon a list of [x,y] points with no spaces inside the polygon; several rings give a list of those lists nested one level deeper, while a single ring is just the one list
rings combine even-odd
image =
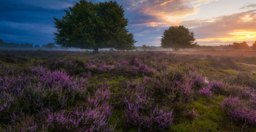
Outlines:
[{"label": "cloudy sunset sky, dark blue at left, glowing orange at right", "polygon": [[[104,2],[105,0],[90,0]],[[125,10],[135,46],[160,46],[169,26],[184,25],[199,45],[218,46],[256,40],[256,0],[116,0]],[[0,39],[54,42],[53,17],[61,18],[79,0],[0,0]]]}]

